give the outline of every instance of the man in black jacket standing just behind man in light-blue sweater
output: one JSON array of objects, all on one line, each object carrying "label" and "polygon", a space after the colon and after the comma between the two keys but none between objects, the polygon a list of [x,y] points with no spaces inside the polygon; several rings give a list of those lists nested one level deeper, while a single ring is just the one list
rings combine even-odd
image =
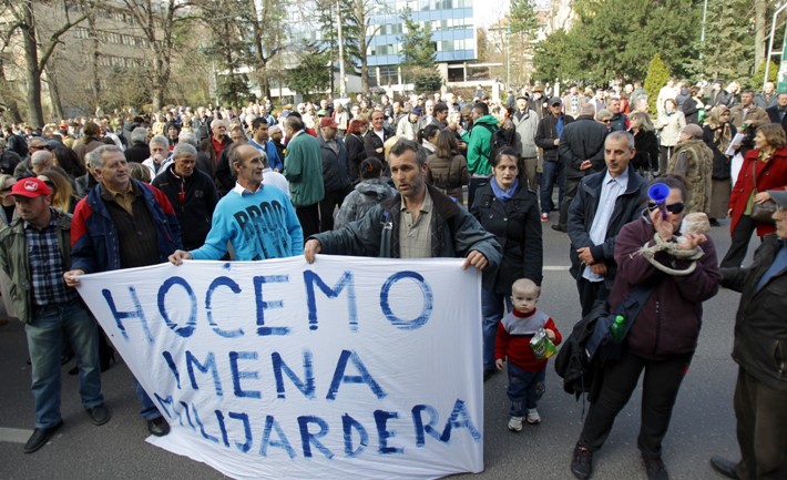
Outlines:
[{"label": "man in black jacket standing just behind man in light-blue sweater", "polygon": [[178,143],[172,152],[173,162],[153,180],[153,186],[170,200],[183,232],[183,247],[188,251],[205,243],[218,202],[213,180],[195,168],[196,156],[193,145]]}]

